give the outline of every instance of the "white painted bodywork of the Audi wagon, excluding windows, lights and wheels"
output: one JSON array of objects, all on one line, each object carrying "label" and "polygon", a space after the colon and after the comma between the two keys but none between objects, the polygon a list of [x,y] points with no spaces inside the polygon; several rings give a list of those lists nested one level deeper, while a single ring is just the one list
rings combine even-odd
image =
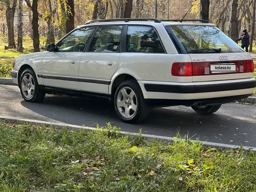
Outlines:
[{"label": "white painted bodywork of the Audi wagon, excluding windows, lights and wheels", "polygon": [[[239,54],[178,54],[175,45],[165,30],[169,25],[201,25],[215,26],[208,23],[179,23],[179,22],[102,22],[92,23],[86,26],[100,26],[112,24],[145,25],[154,27],[161,38],[165,54],[145,53],[95,53],[95,52],[40,52],[20,56],[16,59],[13,72],[19,72],[20,67],[29,65],[35,74],[81,78],[87,80],[111,81],[111,84],[97,84],[79,81],[65,81],[44,79],[37,77],[38,84],[61,88],[72,88],[73,90],[89,91],[113,95],[112,86],[116,77],[122,74],[133,76],[140,84],[145,99],[201,99],[227,97],[232,95],[243,95],[253,93],[253,88],[245,88],[232,91],[218,91],[211,93],[158,93],[146,91],[145,83],[151,84],[229,84],[253,80],[253,73],[218,74],[211,76],[172,76],[171,69],[174,62],[205,62],[219,61],[219,56],[228,56],[229,61],[251,59],[250,54],[242,52]],[[86,27],[80,26],[80,27]],[[71,61],[75,61],[74,65]],[[108,65],[110,64],[110,65]],[[17,84],[17,78],[13,82]]]}]

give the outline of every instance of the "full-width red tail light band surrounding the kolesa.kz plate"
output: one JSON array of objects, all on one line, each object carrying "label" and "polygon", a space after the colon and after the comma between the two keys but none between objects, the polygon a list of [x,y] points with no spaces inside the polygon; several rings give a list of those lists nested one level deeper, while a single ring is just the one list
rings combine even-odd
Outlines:
[{"label": "full-width red tail light band surrounding the kolesa.kz plate", "polygon": [[[192,63],[173,63],[172,75],[173,76],[204,76],[204,75],[215,75],[215,74],[232,74],[232,73],[250,73],[254,72],[253,60],[244,61],[229,61],[228,63],[235,63],[236,72],[232,73],[211,73],[210,65],[217,64],[220,62],[192,62]],[[220,63],[225,64],[225,63]]]}]

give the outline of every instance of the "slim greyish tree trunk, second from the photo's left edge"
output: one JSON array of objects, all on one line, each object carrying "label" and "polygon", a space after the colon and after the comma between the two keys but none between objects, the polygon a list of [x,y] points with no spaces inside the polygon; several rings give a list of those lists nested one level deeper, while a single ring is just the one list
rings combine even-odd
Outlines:
[{"label": "slim greyish tree trunk, second from the photo's left edge", "polygon": [[19,26],[17,51],[23,52],[23,0],[19,0]]}]

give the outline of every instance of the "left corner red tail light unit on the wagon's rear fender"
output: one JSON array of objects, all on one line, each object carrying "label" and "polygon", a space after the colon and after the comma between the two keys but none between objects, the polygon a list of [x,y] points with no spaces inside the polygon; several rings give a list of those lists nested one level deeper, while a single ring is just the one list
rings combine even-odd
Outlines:
[{"label": "left corner red tail light unit on the wagon's rear fender", "polygon": [[192,63],[173,63],[173,76],[192,76]]}]

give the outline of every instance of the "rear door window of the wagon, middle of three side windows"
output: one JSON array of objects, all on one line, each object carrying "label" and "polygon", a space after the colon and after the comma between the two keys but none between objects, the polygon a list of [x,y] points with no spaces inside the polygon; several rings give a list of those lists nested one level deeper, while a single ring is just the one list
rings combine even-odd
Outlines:
[{"label": "rear door window of the wagon, middle of three side windows", "polygon": [[118,52],[122,26],[100,26],[93,37],[89,52]]}]

